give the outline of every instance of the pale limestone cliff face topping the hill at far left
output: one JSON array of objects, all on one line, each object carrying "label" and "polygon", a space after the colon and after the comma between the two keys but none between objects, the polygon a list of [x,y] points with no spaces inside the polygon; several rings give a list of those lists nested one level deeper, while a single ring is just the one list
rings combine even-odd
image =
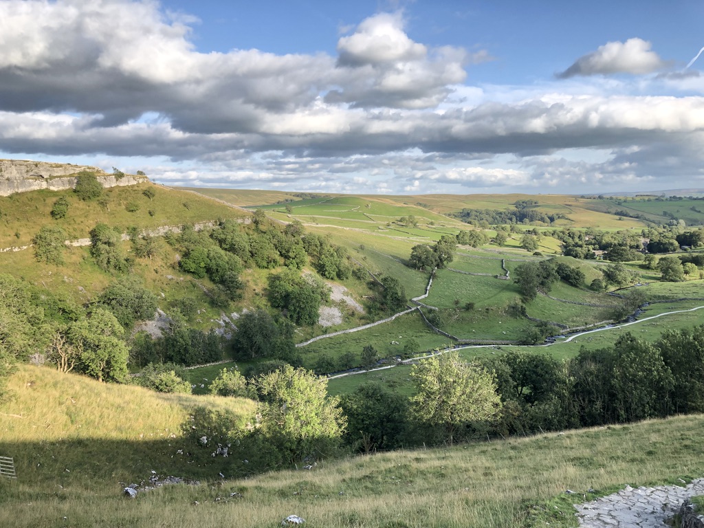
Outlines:
[{"label": "pale limestone cliff face topping the hill at far left", "polygon": [[103,187],[122,187],[146,181],[146,177],[125,175],[118,180],[99,168],[68,163],[48,163],[46,161],[0,160],[0,196],[9,196],[15,192],[51,189],[61,191],[73,189],[75,175],[82,170],[95,172]]}]

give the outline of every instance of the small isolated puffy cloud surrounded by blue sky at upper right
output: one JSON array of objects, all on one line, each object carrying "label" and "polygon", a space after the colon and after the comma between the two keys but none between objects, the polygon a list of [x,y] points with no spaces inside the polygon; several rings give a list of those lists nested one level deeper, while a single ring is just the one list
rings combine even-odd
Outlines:
[{"label": "small isolated puffy cloud surrounded by blue sky at upper right", "polygon": [[561,79],[575,75],[610,75],[652,73],[665,66],[655,51],[650,51],[650,42],[633,38],[626,42],[608,42],[596,51],[577,59],[567,70],[558,73]]}]

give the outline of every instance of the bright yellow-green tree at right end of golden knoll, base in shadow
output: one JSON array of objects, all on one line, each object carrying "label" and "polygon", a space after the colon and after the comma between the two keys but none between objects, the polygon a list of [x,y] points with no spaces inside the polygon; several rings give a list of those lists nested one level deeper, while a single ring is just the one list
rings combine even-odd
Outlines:
[{"label": "bright yellow-green tree at right end of golden knoll, base in shadow", "polygon": [[337,397],[327,396],[327,379],[286,365],[256,379],[260,432],[280,463],[291,465],[332,454],[346,420]]}]

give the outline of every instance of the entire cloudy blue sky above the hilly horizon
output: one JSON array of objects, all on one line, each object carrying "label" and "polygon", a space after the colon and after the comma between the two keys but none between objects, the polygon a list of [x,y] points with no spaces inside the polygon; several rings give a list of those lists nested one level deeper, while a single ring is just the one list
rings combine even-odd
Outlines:
[{"label": "entire cloudy blue sky above the hilly horizon", "polygon": [[698,0],[0,0],[0,158],[346,194],[704,188],[703,21]]}]

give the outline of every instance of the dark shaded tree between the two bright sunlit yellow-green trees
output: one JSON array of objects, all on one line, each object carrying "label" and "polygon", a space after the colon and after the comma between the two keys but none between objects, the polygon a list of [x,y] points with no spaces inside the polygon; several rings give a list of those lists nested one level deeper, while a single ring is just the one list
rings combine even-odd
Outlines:
[{"label": "dark shaded tree between the two bright sunlit yellow-green trees", "polygon": [[369,453],[408,444],[408,398],[386,386],[374,382],[360,385],[343,396],[340,407],[347,417],[346,444],[355,451]]}]

